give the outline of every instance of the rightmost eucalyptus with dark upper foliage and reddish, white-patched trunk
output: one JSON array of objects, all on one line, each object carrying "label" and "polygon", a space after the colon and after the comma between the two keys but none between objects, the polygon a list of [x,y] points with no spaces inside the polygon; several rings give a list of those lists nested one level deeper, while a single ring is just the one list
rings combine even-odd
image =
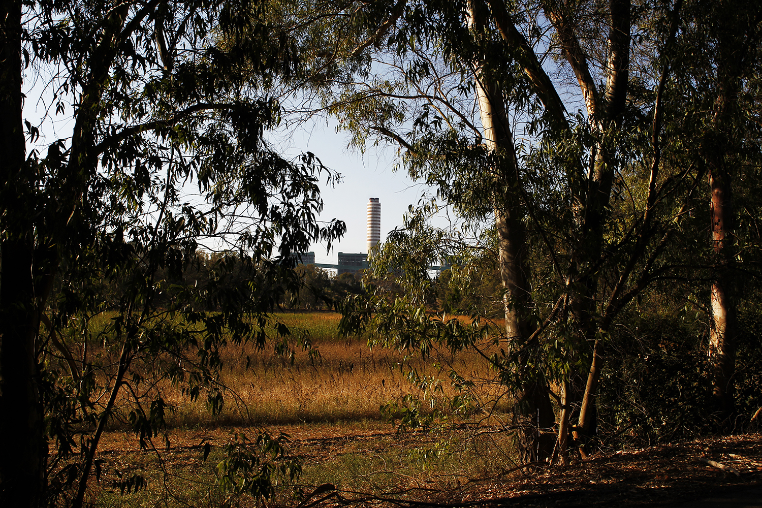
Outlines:
[{"label": "rightmost eucalyptus with dark upper foliage and reddish, white-patched trunk", "polygon": [[[708,179],[710,241],[699,270],[709,289],[709,368],[712,411],[720,427],[735,426],[735,351],[744,331],[738,322],[743,279],[759,276],[753,224],[760,166],[758,77],[762,10],[754,2],[690,2],[678,39],[674,90],[683,119],[674,131],[684,158]],[[706,205],[704,205],[706,206]],[[748,292],[748,291],[746,291]]]}]

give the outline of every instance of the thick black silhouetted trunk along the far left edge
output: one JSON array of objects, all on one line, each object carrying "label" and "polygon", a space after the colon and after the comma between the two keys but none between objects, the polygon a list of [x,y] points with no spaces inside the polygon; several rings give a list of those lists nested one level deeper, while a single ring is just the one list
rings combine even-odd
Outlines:
[{"label": "thick black silhouetted trunk along the far left edge", "polygon": [[0,7],[0,506],[42,503],[47,448],[37,389],[34,178],[21,122],[21,0]]}]

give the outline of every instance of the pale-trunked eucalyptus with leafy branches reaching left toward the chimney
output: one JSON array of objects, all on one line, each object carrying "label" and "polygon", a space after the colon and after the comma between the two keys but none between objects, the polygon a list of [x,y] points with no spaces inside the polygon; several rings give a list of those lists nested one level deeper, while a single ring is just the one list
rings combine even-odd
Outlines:
[{"label": "pale-trunked eucalyptus with leafy branches reaching left toward the chimney", "polygon": [[[408,2],[407,8],[404,21],[390,30],[386,50],[379,48],[373,53],[376,74],[366,80],[357,78],[341,84],[344,91],[338,100],[333,99],[331,111],[339,117],[341,126],[354,133],[354,142],[358,145],[364,145],[371,136],[401,145],[406,150],[405,164],[411,176],[427,181],[436,189],[439,198],[456,212],[463,232],[480,235],[480,228],[495,221],[493,226],[487,227],[496,232],[497,244],[488,248],[495,252],[505,290],[502,335],[511,343],[511,348],[515,348],[511,355],[519,356],[520,367],[515,372],[516,424],[523,428],[524,449],[536,455],[539,440],[552,429],[555,418],[543,372],[530,367],[533,364],[530,356],[536,353],[530,350],[537,347],[537,335],[532,335],[538,316],[529,280],[529,252],[523,222],[526,203],[521,196],[523,189],[517,185],[520,171],[517,147],[504,102],[513,101],[531,108],[533,100],[526,81],[514,78],[512,69],[507,69],[512,62],[501,61],[503,55],[494,34],[491,37],[485,30],[484,5],[478,9],[460,4],[424,7]],[[466,8],[470,8],[470,14]],[[424,35],[408,46],[406,37],[417,31]],[[415,36],[412,38],[415,40]],[[505,99],[502,90],[511,86],[515,88],[514,93]],[[479,101],[475,101],[477,95]],[[411,225],[408,233],[414,228]],[[430,235],[428,229],[419,232],[421,241],[428,237],[425,243],[441,251],[431,241],[434,238],[445,241],[443,235]],[[389,238],[405,242],[399,234]],[[453,238],[449,242],[458,243]],[[381,274],[384,270],[394,270],[395,263],[402,263],[404,266],[398,273],[413,276],[408,283],[417,286],[420,280],[415,278],[424,273],[421,267],[425,269],[434,262],[436,253],[419,246],[415,250],[423,255],[412,255],[410,249],[414,247],[408,242],[395,255],[387,248],[392,244],[393,241],[387,241],[387,246],[376,256],[376,271]],[[463,249],[463,245],[461,242],[458,254],[452,251],[449,254],[460,257],[461,261],[469,257],[467,251],[471,249]],[[395,259],[384,260],[385,256]],[[412,267],[412,260],[417,260],[421,267]],[[411,305],[425,302],[423,293],[417,295],[413,288],[408,289]],[[376,315],[380,317],[384,313],[376,312]],[[399,321],[402,322],[406,321]],[[415,328],[410,324],[405,326],[410,330]],[[421,347],[425,349],[423,344]],[[459,347],[475,345],[466,340]],[[507,359],[496,359],[495,366],[506,375],[511,372],[508,377],[514,375],[514,365]],[[543,433],[538,429],[538,421]],[[552,449],[552,440],[541,446],[539,453],[547,454],[548,449]]]}]

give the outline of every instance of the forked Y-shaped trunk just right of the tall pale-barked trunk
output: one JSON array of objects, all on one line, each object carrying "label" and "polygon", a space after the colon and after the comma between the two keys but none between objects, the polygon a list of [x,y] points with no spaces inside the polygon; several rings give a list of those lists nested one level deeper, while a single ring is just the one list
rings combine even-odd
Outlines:
[{"label": "forked Y-shaped trunk just right of the tall pale-barked trunk", "polygon": [[[602,367],[603,344],[597,340],[599,327],[596,315],[598,276],[596,270],[588,270],[585,265],[593,264],[602,254],[604,232],[608,220],[608,206],[616,167],[616,147],[607,135],[616,129],[622,120],[626,105],[629,83],[629,45],[631,5],[629,0],[610,0],[610,30],[608,35],[608,55],[606,85],[603,93],[597,90],[588,67],[588,56],[578,40],[577,27],[573,21],[575,5],[564,0],[543,0],[543,10],[555,27],[565,56],[574,70],[588,111],[588,121],[597,142],[593,147],[591,168],[587,178],[584,206],[578,209],[578,225],[581,228],[580,242],[572,256],[571,309],[578,323],[581,341],[591,344],[591,368],[587,381],[582,387],[572,387],[572,391],[584,393],[575,436],[589,439],[596,427],[594,419],[597,385]],[[586,273],[582,273],[585,271]]]}]

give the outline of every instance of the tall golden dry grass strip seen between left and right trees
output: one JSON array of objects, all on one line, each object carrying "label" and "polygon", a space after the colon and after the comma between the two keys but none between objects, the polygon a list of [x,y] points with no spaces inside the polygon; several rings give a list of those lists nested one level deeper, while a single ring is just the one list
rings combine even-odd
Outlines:
[{"label": "tall golden dry grass strip seen between left and right trees", "polygon": [[[341,315],[334,312],[283,313],[277,318],[292,330],[295,354],[293,357],[279,355],[273,343],[267,343],[262,349],[253,344],[229,345],[221,351],[223,370],[219,372],[218,381],[223,387],[225,404],[220,414],[211,414],[205,393],[192,401],[183,393],[182,383],[173,385],[169,379],[161,378],[162,369],[155,369],[152,364],[133,365],[141,378],[138,381],[133,378],[129,389],[120,391],[117,418],[111,420],[109,428],[126,428],[127,415],[135,408],[136,395],[145,402],[143,411],[146,413],[150,401],[160,395],[172,409],[166,415],[170,427],[379,420],[383,416],[379,410],[383,404],[409,404],[409,400],[403,403],[408,394],[421,400],[421,413],[437,407],[443,409],[444,414],[463,418],[463,414],[453,415],[447,407],[448,399],[458,394],[449,378],[453,371],[467,381],[474,381],[474,387],[468,388],[467,393],[472,405],[487,408],[486,412],[471,411],[466,417],[486,419],[491,424],[504,423],[504,415],[510,411],[511,401],[495,381],[495,372],[474,351],[453,355],[435,347],[423,359],[421,353],[415,351],[370,348],[363,337],[341,337],[338,333]],[[469,321],[469,318],[454,318]],[[107,316],[101,321],[108,321]],[[102,327],[98,323],[91,325]],[[97,332],[95,329],[94,334]],[[299,349],[300,334],[309,334],[312,354]],[[488,346],[486,350],[494,348]],[[97,376],[114,374],[117,350],[94,348],[90,355],[99,356],[104,365]],[[415,376],[410,372],[415,372]]]}]

